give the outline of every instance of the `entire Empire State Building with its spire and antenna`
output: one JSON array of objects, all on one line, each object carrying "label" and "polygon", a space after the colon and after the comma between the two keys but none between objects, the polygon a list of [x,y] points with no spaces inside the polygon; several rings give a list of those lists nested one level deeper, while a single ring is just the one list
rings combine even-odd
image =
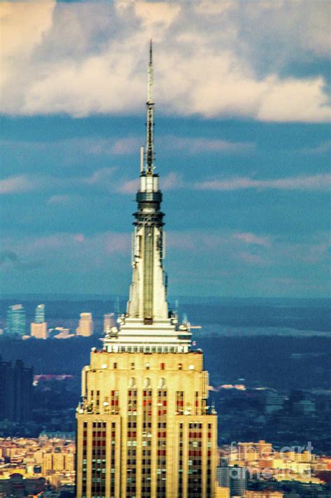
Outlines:
[{"label": "entire Empire State Building with its spire and antenna", "polygon": [[154,169],[152,43],[147,143],[126,313],[91,351],[77,408],[78,498],[212,498],[216,413],[207,406],[203,352],[168,310],[162,193]]}]

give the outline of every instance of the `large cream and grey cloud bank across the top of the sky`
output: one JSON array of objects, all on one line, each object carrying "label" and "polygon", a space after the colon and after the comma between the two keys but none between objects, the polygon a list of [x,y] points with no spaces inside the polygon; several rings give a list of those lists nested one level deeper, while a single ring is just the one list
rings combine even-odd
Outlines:
[{"label": "large cream and grey cloud bank across the top of the sky", "polygon": [[45,1],[6,3],[3,12],[9,40],[3,113],[141,112],[152,36],[155,98],[163,112],[267,121],[330,119],[321,75],[281,76],[290,75],[293,62],[311,62],[330,50],[330,8],[323,0],[56,7]]}]

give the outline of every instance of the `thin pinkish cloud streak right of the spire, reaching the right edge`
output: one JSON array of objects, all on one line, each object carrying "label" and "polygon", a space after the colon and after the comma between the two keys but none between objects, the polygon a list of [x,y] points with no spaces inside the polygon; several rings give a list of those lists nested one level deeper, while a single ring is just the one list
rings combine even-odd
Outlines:
[{"label": "thin pinkish cloud streak right of the spire, reaching the right edge", "polygon": [[296,176],[293,178],[275,178],[272,180],[256,180],[239,177],[223,180],[206,180],[197,183],[198,190],[243,190],[243,189],[276,189],[276,190],[328,190],[331,185],[331,175],[320,173],[314,176]]}]

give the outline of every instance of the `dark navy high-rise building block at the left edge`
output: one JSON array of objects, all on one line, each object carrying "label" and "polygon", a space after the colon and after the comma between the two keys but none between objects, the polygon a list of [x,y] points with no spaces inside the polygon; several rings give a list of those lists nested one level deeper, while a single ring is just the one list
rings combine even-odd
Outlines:
[{"label": "dark navy high-rise building block at the left edge", "polygon": [[0,357],[0,420],[31,420],[34,371],[22,360],[4,362]]}]

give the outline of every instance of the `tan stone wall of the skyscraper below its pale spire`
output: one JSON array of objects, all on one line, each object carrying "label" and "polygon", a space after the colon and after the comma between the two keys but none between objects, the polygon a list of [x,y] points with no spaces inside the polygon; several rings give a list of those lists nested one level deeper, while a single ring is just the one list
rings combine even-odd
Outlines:
[{"label": "tan stone wall of the skyscraper below its pale spire", "polygon": [[[193,460],[201,462],[201,471],[203,476],[203,492],[199,498],[214,497],[214,481],[216,479],[216,415],[207,415],[205,409],[205,397],[207,396],[207,372],[203,370],[203,355],[201,353],[106,353],[104,351],[91,353],[91,364],[87,369],[83,385],[83,395],[86,394],[86,400],[78,413],[78,498],[86,496],[91,498],[89,492],[91,483],[91,462],[87,457],[87,494],[82,493],[82,437],[84,432],[84,422],[87,423],[87,455],[91,453],[91,423],[97,421],[107,422],[108,426],[112,422],[116,423],[116,441],[117,448],[115,476],[116,476],[116,498],[128,498],[126,492],[126,479],[128,467],[126,457],[128,448],[134,448],[135,451],[135,476],[136,490],[135,497],[144,496],[141,490],[142,478],[142,407],[143,391],[152,390],[152,427],[149,429],[151,437],[151,478],[152,493],[148,498],[156,498],[156,481],[157,481],[157,455],[158,440],[160,429],[158,423],[159,413],[166,410],[162,420],[166,420],[166,496],[167,498],[188,498],[188,476]],[[149,387],[147,387],[149,386]],[[158,400],[158,390],[166,390],[166,405],[160,406]],[[128,406],[128,391],[136,390],[135,406]],[[112,404],[112,392],[118,392],[118,406]],[[184,403],[182,413],[179,414],[176,404],[176,392],[184,392]],[[133,415],[134,413],[134,415]],[[186,413],[186,414],[184,414]],[[131,414],[131,415],[130,415]],[[128,439],[128,416],[130,420],[134,417],[135,429],[135,446]],[[165,417],[165,418],[164,418]],[[194,429],[190,429],[190,424],[200,424],[200,439],[198,451],[201,451],[199,457],[189,457],[189,434],[196,434]],[[182,424],[182,453],[179,455],[179,430]],[[200,426],[199,426],[200,427]],[[120,428],[120,429],[119,429]],[[85,429],[86,432],[86,429]],[[208,439],[209,438],[209,439]],[[107,448],[111,447],[111,437],[107,435]],[[146,438],[145,438],[146,439]],[[191,442],[191,446],[192,443]],[[191,447],[190,446],[190,447]],[[192,451],[192,448],[191,450]],[[209,453],[208,453],[209,452]],[[109,455],[109,453],[107,453]],[[178,494],[178,475],[179,459],[182,460],[183,469],[183,490]],[[192,460],[193,459],[193,460]],[[200,459],[200,460],[199,460]],[[207,494],[207,466],[210,469],[210,489]],[[106,492],[105,497],[110,498],[109,483],[111,478],[111,466],[107,464],[106,470]]]}]

